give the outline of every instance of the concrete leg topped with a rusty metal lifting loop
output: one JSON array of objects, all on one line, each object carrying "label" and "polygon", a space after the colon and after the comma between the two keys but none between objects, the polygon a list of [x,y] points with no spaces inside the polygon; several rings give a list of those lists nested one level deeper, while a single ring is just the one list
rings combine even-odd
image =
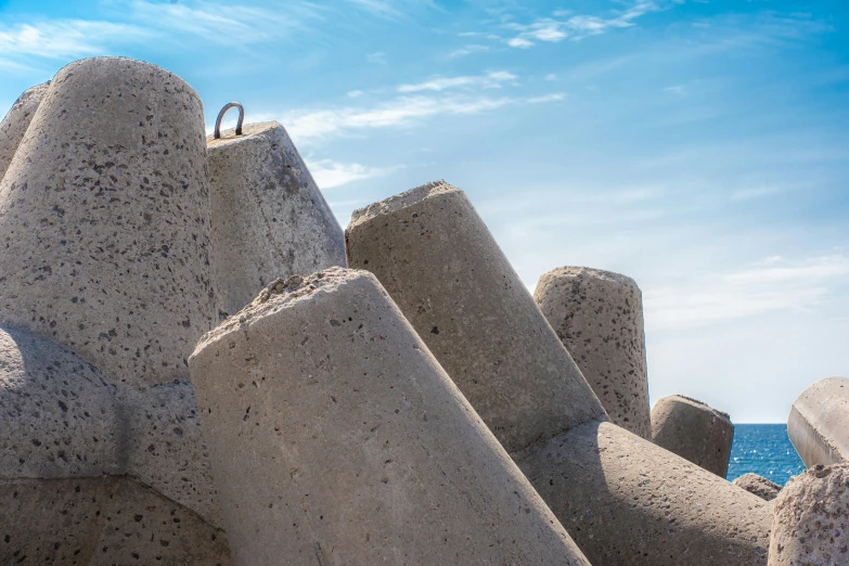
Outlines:
[{"label": "concrete leg topped with a rusty metal lifting loop", "polygon": [[207,146],[219,317],[274,279],[345,266],[342,228],[283,126],[248,124]]}]

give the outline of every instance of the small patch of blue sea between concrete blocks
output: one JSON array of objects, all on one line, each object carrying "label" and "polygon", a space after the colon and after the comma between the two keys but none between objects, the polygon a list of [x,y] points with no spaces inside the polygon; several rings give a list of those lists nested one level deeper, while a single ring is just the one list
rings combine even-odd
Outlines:
[{"label": "small patch of blue sea between concrete blocks", "polygon": [[749,472],[783,486],[805,471],[785,424],[735,424],[728,479]]}]

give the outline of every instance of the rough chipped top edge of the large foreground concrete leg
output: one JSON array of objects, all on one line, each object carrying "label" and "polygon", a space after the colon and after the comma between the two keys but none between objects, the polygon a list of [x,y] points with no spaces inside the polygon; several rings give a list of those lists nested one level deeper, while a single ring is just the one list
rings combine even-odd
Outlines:
[{"label": "rough chipped top edge of the large foreground concrete leg", "polygon": [[206,345],[229,332],[242,329],[244,325],[250,325],[254,321],[271,312],[292,307],[296,303],[314,297],[317,294],[333,293],[344,285],[362,279],[381,287],[377,279],[369,271],[340,267],[327,268],[311,275],[292,275],[285,280],[276,279],[269,283],[253,303],[204,334],[190,357],[190,361]]}]

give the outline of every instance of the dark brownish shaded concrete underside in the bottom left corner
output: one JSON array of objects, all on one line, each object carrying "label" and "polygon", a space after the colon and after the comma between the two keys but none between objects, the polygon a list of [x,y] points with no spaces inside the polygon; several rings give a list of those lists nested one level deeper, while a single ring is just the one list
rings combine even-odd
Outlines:
[{"label": "dark brownish shaded concrete underside in the bottom left corner", "polygon": [[127,477],[0,479],[0,564],[231,564],[222,530]]}]

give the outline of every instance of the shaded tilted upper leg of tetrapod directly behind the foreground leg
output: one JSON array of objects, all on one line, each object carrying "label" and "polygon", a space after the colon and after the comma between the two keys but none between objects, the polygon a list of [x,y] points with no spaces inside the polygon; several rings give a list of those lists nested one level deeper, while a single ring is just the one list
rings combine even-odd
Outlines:
[{"label": "shaded tilted upper leg of tetrapod directly behind the foreground leg", "polygon": [[509,452],[604,414],[459,189],[438,181],[355,210],[346,245]]}]

